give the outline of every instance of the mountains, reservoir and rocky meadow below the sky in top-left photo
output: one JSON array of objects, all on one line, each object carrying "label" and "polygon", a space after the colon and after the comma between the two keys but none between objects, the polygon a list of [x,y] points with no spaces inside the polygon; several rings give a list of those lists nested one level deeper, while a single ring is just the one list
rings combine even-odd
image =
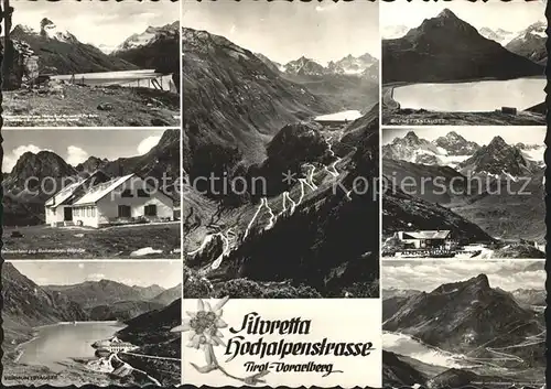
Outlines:
[{"label": "mountains, reservoir and rocky meadow below the sky in top-left photo", "polygon": [[[13,18],[25,12],[15,7]],[[179,126],[179,21],[149,26],[104,52],[46,17],[40,25],[17,24],[4,60],[6,125]]]}]

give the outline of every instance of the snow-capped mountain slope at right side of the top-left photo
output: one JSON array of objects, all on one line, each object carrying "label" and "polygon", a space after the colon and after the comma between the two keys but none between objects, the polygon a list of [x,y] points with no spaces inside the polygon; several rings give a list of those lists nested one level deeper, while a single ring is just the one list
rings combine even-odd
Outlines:
[{"label": "snow-capped mountain slope at right side of the top-left photo", "polygon": [[171,73],[176,88],[180,88],[180,22],[149,26],[141,34],[125,40],[110,56],[143,69]]}]

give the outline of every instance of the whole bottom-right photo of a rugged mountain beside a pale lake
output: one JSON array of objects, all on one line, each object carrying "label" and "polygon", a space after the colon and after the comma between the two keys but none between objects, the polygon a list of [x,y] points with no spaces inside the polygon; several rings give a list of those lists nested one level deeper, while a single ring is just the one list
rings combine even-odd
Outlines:
[{"label": "whole bottom-right photo of a rugged mountain beside a pale lake", "polygon": [[382,385],[544,388],[544,263],[385,261]]}]

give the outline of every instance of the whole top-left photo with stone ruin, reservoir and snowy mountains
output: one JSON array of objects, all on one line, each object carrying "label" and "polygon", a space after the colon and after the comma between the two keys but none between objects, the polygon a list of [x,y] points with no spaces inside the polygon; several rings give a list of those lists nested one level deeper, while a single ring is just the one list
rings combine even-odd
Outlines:
[{"label": "whole top-left photo with stone ruin, reservoir and snowy mountains", "polygon": [[4,127],[180,126],[179,2],[10,6]]}]

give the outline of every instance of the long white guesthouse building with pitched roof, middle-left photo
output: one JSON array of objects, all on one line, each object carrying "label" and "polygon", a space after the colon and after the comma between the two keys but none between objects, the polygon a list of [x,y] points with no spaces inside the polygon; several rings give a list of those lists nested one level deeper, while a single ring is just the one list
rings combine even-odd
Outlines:
[{"label": "long white guesthouse building with pitched roof, middle-left photo", "polygon": [[174,199],[137,174],[109,179],[96,172],[67,185],[45,203],[52,227],[104,227],[174,219]]}]

